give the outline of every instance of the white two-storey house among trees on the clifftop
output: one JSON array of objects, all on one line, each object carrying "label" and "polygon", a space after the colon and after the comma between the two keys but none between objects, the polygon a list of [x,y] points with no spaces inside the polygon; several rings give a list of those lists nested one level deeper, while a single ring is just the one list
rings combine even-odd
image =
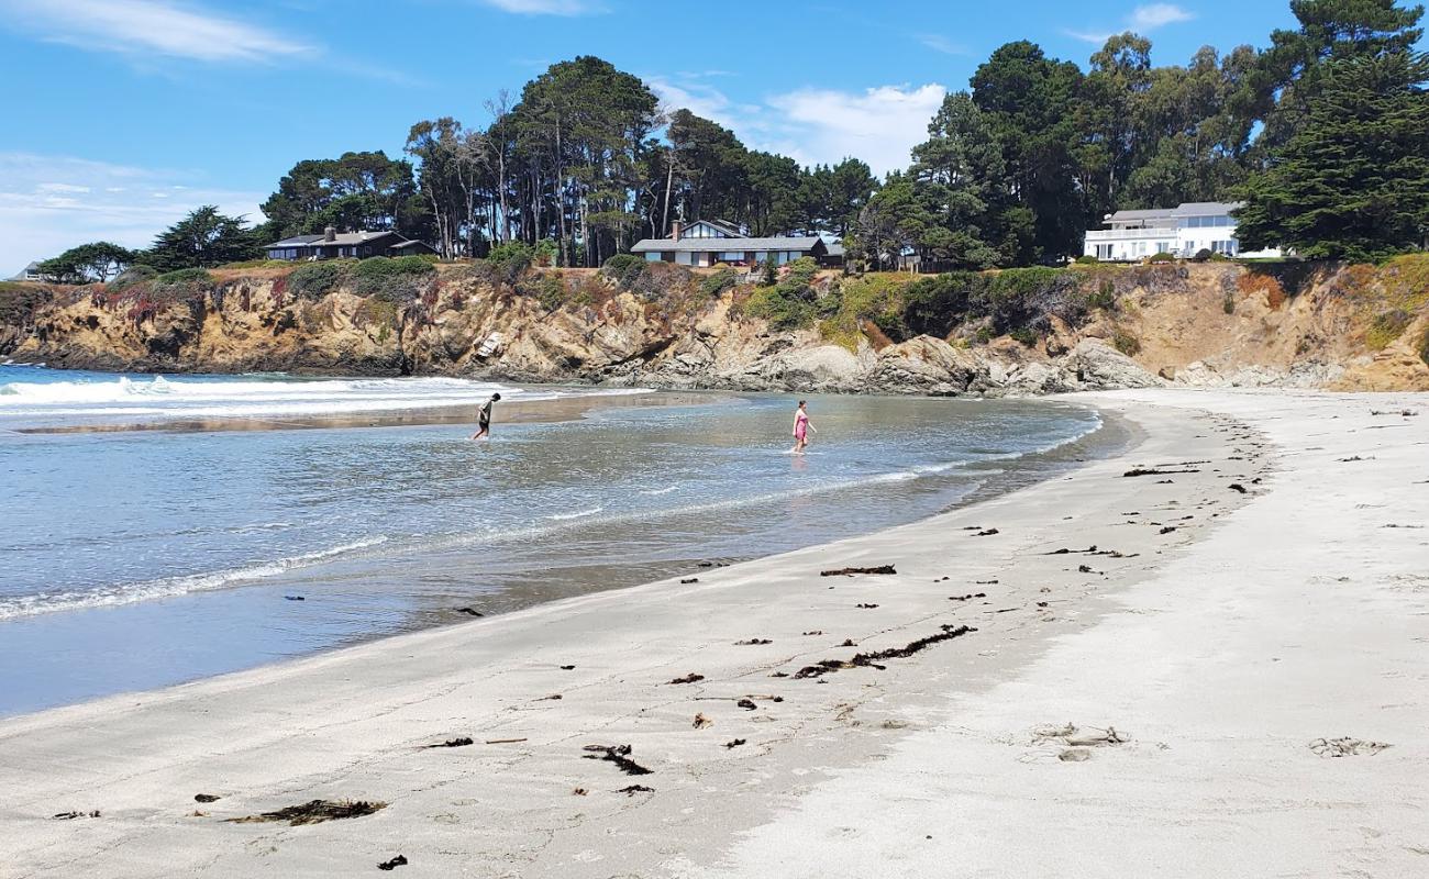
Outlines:
[{"label": "white two-storey house among trees on the clifftop", "polygon": [[1103,262],[1132,262],[1156,253],[1192,257],[1202,250],[1225,256],[1279,257],[1279,250],[1242,252],[1232,210],[1239,203],[1187,202],[1176,207],[1119,210],[1107,214],[1109,229],[1086,233],[1083,253]]}]

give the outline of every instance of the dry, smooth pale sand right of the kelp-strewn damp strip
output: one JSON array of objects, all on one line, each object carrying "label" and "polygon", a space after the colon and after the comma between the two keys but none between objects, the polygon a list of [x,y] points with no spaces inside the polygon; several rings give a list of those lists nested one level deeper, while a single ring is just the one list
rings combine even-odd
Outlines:
[{"label": "dry, smooth pale sand right of the kelp-strewn damp strip", "polygon": [[[1097,400],[1245,419],[1273,487],[699,875],[1429,875],[1429,400]],[[1370,416],[1406,406],[1425,417]],[[1130,742],[1060,762],[1035,730],[1069,719]],[[1336,738],[1392,748],[1318,753]]]}]

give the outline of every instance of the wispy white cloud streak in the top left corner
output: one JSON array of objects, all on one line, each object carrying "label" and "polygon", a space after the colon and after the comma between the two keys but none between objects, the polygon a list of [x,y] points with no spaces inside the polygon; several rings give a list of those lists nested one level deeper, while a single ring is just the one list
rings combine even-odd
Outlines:
[{"label": "wispy white cloud streak in the top left corner", "polygon": [[10,26],[93,51],[272,63],[312,51],[272,30],[171,0],[0,0]]}]

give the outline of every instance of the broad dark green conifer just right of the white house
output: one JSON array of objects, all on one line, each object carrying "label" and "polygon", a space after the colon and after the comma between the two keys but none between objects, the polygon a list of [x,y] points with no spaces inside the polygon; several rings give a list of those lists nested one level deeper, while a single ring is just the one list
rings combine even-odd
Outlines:
[{"label": "broad dark green conifer just right of the white house", "polygon": [[1409,50],[1330,61],[1305,124],[1245,187],[1246,249],[1372,260],[1429,236],[1429,60]]}]

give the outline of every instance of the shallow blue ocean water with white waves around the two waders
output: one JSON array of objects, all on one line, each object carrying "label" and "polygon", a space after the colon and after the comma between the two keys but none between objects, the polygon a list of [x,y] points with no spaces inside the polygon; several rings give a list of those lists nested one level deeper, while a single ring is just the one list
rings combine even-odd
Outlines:
[{"label": "shallow blue ocean water with white waves around the two waders", "polygon": [[[489,442],[460,423],[297,429],[474,409],[496,389]],[[582,394],[573,420],[502,422],[506,402]],[[910,522],[1043,479],[1106,434],[1056,403],[823,396],[792,456],[787,396],[603,394],[0,366],[0,713]],[[193,419],[250,429],[161,429]]]}]

